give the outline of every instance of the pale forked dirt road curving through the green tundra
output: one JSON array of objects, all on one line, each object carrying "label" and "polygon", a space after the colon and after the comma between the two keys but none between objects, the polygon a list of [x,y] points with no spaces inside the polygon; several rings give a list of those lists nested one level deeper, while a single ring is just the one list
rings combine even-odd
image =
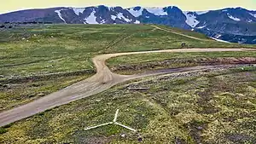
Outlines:
[{"label": "pale forked dirt road curving through the green tundra", "polygon": [[[163,52],[214,52],[214,51],[247,51],[252,49],[166,49],[157,51],[143,51],[143,52],[131,52],[131,53],[117,53],[98,55],[93,58],[93,63],[96,66],[96,74],[90,78],[87,78],[77,84],[73,84],[65,89],[61,89],[53,94],[46,95],[38,100],[32,101],[26,105],[16,107],[9,111],[0,113],[0,126],[13,123],[22,118],[30,117],[38,112],[44,112],[47,109],[51,109],[57,106],[67,104],[71,101],[77,101],[90,95],[96,95],[106,89],[111,88],[115,84],[125,82],[127,80],[135,78],[143,78],[163,73],[170,72],[187,72],[187,71],[199,71],[209,68],[216,68],[220,66],[195,66],[171,69],[168,71],[156,71],[146,72],[137,75],[119,75],[111,72],[108,66],[105,65],[105,60],[119,55],[134,55],[145,53],[163,53]],[[222,66],[223,67],[223,66]]]}]

